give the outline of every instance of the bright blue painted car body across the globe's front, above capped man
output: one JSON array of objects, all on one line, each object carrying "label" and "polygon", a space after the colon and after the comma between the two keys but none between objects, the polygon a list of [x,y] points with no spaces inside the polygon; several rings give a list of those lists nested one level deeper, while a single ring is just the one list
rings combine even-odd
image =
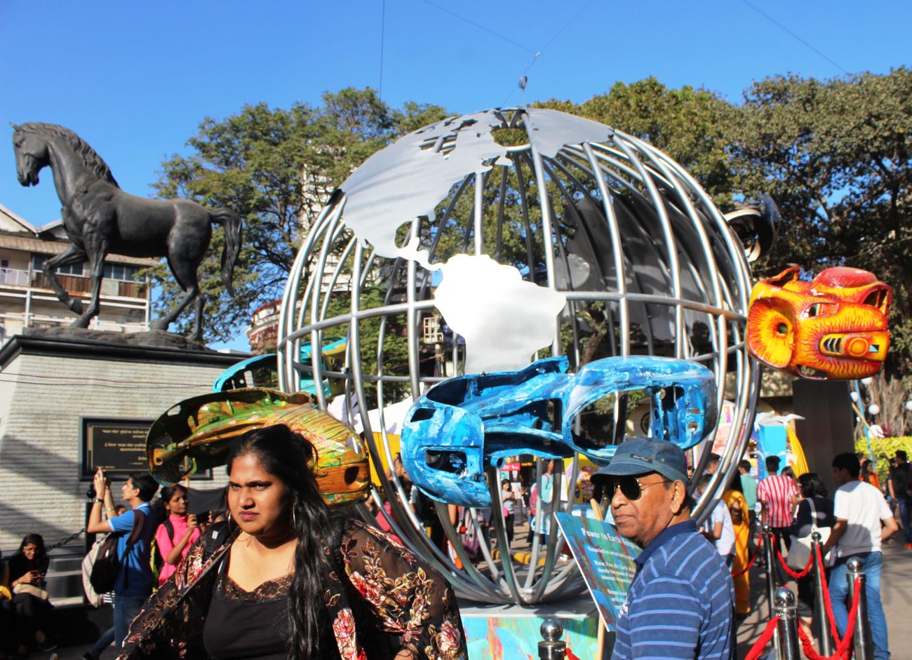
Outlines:
[{"label": "bright blue painted car body across the globe's front, above capped man", "polygon": [[488,465],[517,454],[565,459],[575,451],[600,464],[614,446],[574,433],[575,418],[612,393],[646,390],[651,435],[682,449],[715,428],[716,381],[705,366],[657,356],[606,357],[567,374],[564,356],[520,371],[451,378],[420,397],[402,430],[402,462],[422,492],[461,506],[491,506]]}]

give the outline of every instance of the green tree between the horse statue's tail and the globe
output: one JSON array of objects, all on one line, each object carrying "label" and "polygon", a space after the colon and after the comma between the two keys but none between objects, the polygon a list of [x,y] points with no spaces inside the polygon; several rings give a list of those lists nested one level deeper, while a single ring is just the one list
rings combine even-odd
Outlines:
[{"label": "green tree between the horse statue's tail and the globe", "polygon": [[[230,299],[218,280],[221,231],[200,269],[206,339],[237,335],[256,306],[282,295],[303,236],[358,165],[400,135],[444,116],[439,106],[389,108],[372,89],[347,88],[327,92],[318,107],[261,103],[227,119],[203,119],[188,140],[191,153],[164,162],[155,188],[161,197],[228,206],[244,218],[244,248],[234,272],[237,296]],[[161,287],[157,311],[173,308],[180,290],[167,266],[151,269],[151,275]],[[181,315],[178,330],[191,322],[189,312]]]}]

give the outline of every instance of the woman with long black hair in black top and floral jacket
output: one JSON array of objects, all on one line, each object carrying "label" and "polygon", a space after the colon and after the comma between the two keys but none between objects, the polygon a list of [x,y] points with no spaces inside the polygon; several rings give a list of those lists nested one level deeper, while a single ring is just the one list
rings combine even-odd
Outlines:
[{"label": "woman with long black hair in black top and floral jacket", "polygon": [[281,425],[234,442],[229,520],[153,594],[121,658],[465,657],[450,585],[381,531],[327,509],[315,462],[313,445]]}]

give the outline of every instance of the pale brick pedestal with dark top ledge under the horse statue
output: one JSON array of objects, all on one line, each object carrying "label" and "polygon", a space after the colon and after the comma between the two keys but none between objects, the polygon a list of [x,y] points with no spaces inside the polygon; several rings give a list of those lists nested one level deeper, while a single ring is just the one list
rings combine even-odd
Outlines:
[{"label": "pale brick pedestal with dark top ledge under the horse statue", "polygon": [[[85,524],[82,418],[158,418],[181,399],[212,391],[244,359],[167,333],[17,335],[0,349],[0,549],[26,533],[50,544]],[[179,347],[177,347],[179,346]],[[224,484],[218,472],[206,488]],[[114,482],[115,501],[119,500]],[[78,544],[78,541],[77,541]]]}]

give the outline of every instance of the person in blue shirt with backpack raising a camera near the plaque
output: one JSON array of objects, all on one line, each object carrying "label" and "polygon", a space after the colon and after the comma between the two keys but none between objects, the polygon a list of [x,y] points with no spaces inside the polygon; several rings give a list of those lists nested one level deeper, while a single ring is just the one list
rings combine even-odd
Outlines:
[{"label": "person in blue shirt with backpack raising a camera near the plaque", "polygon": [[[145,603],[155,585],[155,576],[150,566],[150,550],[158,519],[149,502],[159,490],[159,484],[148,472],[132,473],[120,487],[120,495],[130,505],[130,510],[107,521],[102,519],[102,507],[113,514],[114,499],[110,481],[100,468],[95,473],[93,485],[95,498],[88,514],[86,531],[90,534],[111,532],[119,537],[120,571],[114,584],[114,645],[119,650],[127,636],[130,622],[140,614],[142,603]],[[128,547],[134,524],[141,524],[141,531],[137,541]]]}]

